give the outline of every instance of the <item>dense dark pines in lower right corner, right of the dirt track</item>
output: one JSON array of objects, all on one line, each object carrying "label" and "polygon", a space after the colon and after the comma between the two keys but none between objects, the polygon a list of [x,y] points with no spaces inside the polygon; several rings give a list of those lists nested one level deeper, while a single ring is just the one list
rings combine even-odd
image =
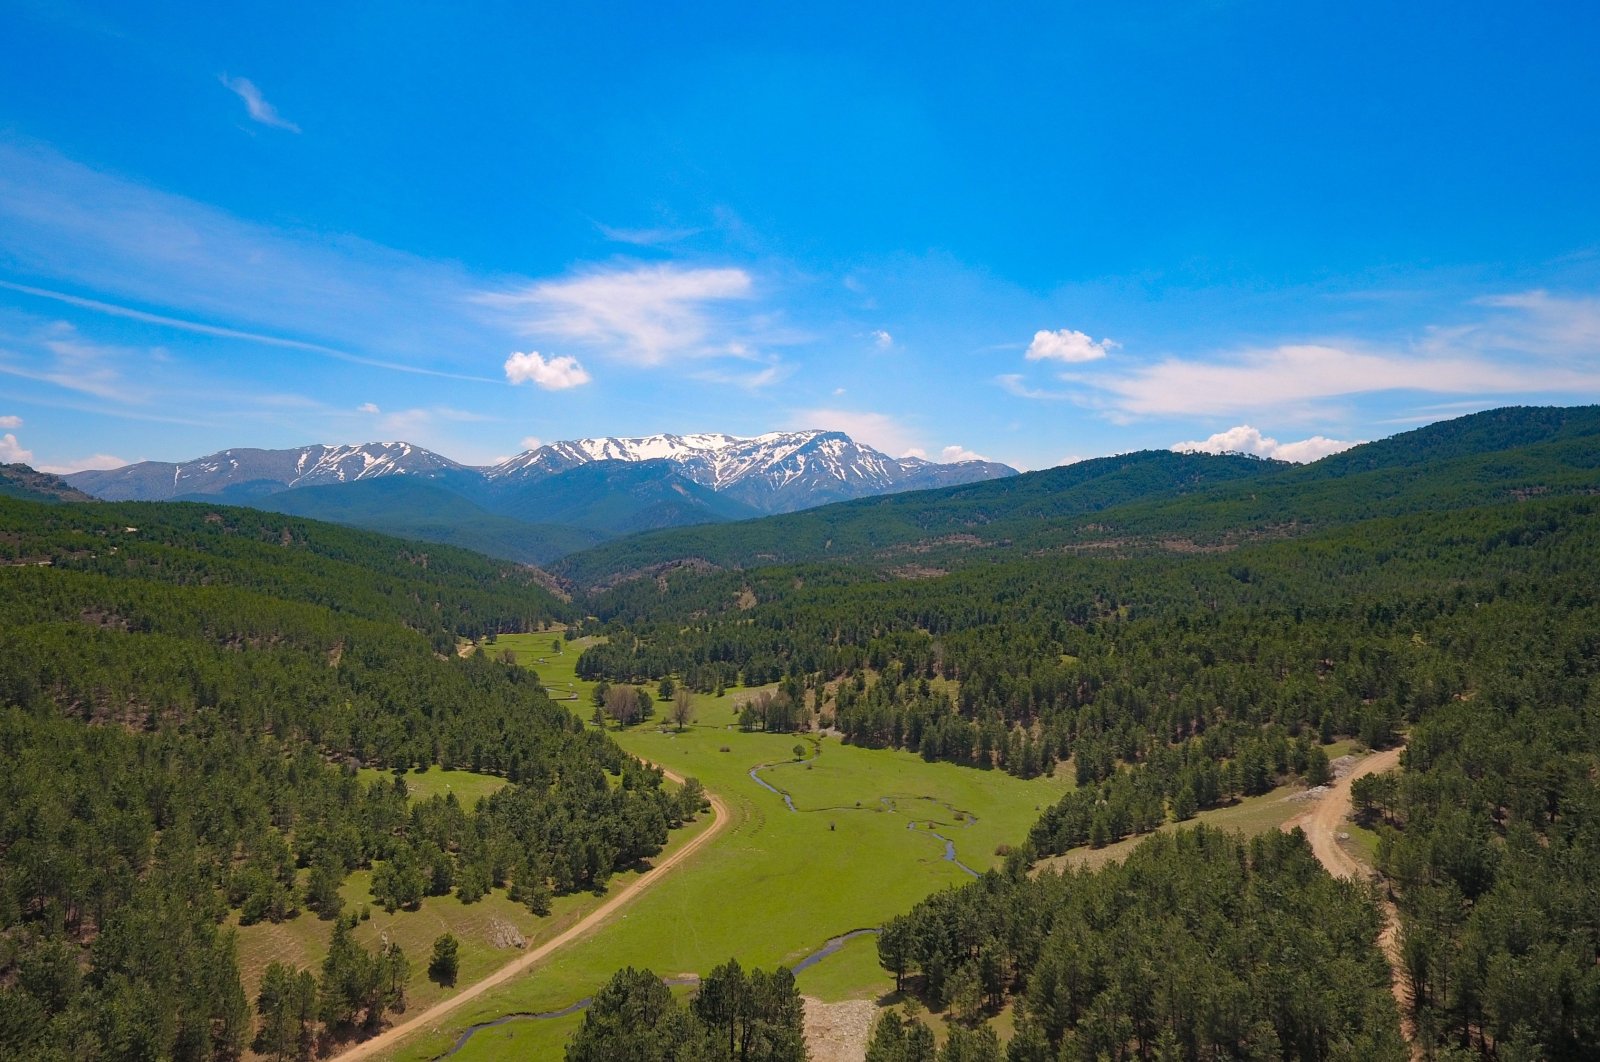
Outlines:
[{"label": "dense dark pines in lower right corner, right of the dirt track", "polygon": [[1586,1059],[1600,1044],[1594,571],[1546,601],[1459,624],[1483,673],[1474,694],[1413,728],[1403,773],[1352,795],[1379,830],[1422,1036]]}]

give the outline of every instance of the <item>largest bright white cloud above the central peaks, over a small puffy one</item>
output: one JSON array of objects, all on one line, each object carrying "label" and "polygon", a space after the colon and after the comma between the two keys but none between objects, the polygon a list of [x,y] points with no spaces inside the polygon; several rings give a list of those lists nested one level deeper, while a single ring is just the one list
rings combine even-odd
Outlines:
[{"label": "largest bright white cloud above the central peaks, over a small puffy one", "polygon": [[477,301],[510,313],[520,331],[594,345],[635,365],[749,357],[747,339],[715,309],[750,297],[742,269],[646,266],[546,280]]}]

